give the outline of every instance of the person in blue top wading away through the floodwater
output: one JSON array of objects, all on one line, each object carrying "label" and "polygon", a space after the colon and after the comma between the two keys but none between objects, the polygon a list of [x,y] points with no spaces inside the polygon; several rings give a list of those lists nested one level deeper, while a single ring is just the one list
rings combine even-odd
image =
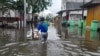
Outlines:
[{"label": "person in blue top wading away through the floodwater", "polygon": [[41,31],[41,36],[43,38],[43,43],[47,41],[48,37],[48,23],[45,22],[44,17],[40,18],[40,23],[38,24],[38,30]]}]

